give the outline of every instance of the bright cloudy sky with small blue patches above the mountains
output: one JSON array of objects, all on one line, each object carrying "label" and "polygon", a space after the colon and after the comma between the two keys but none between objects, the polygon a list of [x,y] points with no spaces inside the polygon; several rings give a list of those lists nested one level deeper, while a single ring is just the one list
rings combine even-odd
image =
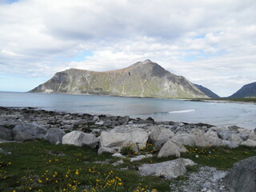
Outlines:
[{"label": "bright cloudy sky with small blue patches above the mountains", "polygon": [[256,1],[0,0],[0,91],[146,59],[234,94],[256,82]]}]

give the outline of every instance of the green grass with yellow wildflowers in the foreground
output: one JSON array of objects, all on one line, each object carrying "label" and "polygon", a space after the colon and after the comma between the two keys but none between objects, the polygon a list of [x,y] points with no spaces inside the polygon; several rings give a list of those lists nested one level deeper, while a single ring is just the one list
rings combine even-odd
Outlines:
[{"label": "green grass with yellow wildflowers in the foreground", "polygon": [[[199,166],[214,166],[229,169],[234,162],[256,155],[255,148],[239,146],[236,149],[223,147],[187,147],[188,153],[182,158],[190,158]],[[210,153],[209,153],[210,151]],[[154,152],[146,145],[142,154]],[[195,158],[198,154],[199,158]],[[136,154],[130,154],[130,157]],[[86,147],[52,145],[46,141],[0,144],[0,191],[2,192],[53,192],[53,191],[170,191],[173,180],[142,177],[138,166],[156,163],[170,158],[145,158],[139,162],[124,159],[124,164],[112,166],[119,159],[110,154],[98,155],[97,150]],[[196,167],[188,168],[197,171]]]}]

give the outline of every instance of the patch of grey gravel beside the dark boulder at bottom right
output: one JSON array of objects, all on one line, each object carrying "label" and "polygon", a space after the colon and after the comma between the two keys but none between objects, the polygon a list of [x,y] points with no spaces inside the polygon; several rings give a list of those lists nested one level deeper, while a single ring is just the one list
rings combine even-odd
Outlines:
[{"label": "patch of grey gravel beside the dark boulder at bottom right", "polygon": [[222,184],[222,178],[228,171],[216,170],[214,167],[202,166],[197,172],[187,174],[186,180],[171,184],[172,192],[230,192]]}]

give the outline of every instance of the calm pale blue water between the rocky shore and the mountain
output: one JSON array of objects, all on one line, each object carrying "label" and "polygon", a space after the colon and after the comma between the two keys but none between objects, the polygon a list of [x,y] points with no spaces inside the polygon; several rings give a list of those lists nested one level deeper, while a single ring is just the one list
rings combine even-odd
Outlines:
[{"label": "calm pale blue water between the rocky shore and the mountain", "polygon": [[0,92],[0,106],[31,106],[71,113],[129,115],[132,118],[151,117],[157,121],[204,122],[217,126],[256,128],[256,106],[250,103]]}]

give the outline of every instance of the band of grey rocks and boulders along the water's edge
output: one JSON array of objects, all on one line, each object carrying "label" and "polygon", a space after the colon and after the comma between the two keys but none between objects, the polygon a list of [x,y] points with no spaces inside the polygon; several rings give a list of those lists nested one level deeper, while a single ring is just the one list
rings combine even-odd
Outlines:
[{"label": "band of grey rocks and boulders along the water's edge", "polygon": [[[36,139],[45,139],[53,144],[90,146],[98,149],[99,155],[111,153],[121,158],[113,165],[123,163],[122,158],[126,158],[122,153],[124,149],[130,149],[136,154],[130,158],[130,162],[140,161],[153,155],[157,158],[175,156],[176,159],[172,161],[138,167],[139,174],[167,179],[178,178],[186,174],[187,166],[196,165],[190,159],[180,158],[181,153],[188,151],[186,146],[228,148],[256,146],[254,130],[246,130],[238,126],[155,122],[153,118],[70,114],[32,108],[0,107],[0,143]],[[153,145],[151,150],[141,153],[148,143]],[[212,167],[200,167],[198,172],[187,175],[188,179],[182,182],[182,186],[172,187],[182,191],[229,191],[222,182],[226,173],[227,171]]]}]

